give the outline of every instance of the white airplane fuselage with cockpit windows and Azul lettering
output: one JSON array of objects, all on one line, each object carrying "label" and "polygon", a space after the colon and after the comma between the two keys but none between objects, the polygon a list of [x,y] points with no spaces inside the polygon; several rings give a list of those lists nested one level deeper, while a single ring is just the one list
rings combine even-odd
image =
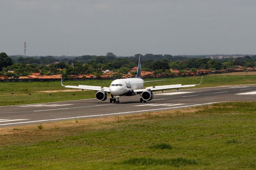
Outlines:
[{"label": "white airplane fuselage with cockpit windows and Azul lettering", "polygon": [[109,86],[110,93],[114,96],[134,95],[132,90],[143,89],[144,80],[140,78],[116,79]]}]

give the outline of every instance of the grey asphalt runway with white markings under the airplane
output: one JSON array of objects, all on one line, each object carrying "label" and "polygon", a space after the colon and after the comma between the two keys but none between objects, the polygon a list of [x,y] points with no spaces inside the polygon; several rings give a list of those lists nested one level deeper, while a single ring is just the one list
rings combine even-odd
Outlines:
[{"label": "grey asphalt runway with white markings under the airplane", "polygon": [[0,127],[40,124],[70,119],[86,119],[132,113],[177,110],[228,101],[256,101],[256,85],[239,85],[164,91],[154,93],[152,101],[140,103],[140,95],[120,97],[120,104],[110,98],[38,103],[0,107]]}]

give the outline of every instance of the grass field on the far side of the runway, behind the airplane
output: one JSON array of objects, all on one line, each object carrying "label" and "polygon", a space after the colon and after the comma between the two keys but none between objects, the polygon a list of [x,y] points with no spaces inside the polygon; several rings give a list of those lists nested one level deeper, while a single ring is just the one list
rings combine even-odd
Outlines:
[{"label": "grass field on the far side of the runway, behind the airplane", "polygon": [[[145,84],[146,87],[155,85],[168,84],[198,84],[201,77],[176,77],[162,78],[166,81],[153,82]],[[152,81],[159,79],[145,79]],[[65,85],[110,85],[112,80],[85,80],[85,81],[64,81]],[[256,84],[256,74],[254,72],[230,73],[207,75],[203,78],[202,84],[197,87],[214,87],[218,85],[242,85]],[[73,92],[49,92],[42,93],[38,91],[54,91],[65,89],[60,85],[60,81],[54,82],[17,82],[17,83],[0,83],[0,106],[20,105],[29,103],[44,103],[52,101],[66,101],[77,99],[94,98],[94,91],[73,91]],[[14,94],[12,94],[14,93]],[[29,95],[31,94],[31,95]],[[50,95],[52,94],[52,95]],[[73,95],[75,94],[75,95]]]}]

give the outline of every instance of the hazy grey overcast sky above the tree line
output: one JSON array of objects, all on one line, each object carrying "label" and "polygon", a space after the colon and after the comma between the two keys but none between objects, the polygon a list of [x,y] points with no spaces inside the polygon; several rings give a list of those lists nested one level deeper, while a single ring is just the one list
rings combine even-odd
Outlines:
[{"label": "hazy grey overcast sky above the tree line", "polygon": [[256,54],[255,0],[0,0],[8,55]]}]

